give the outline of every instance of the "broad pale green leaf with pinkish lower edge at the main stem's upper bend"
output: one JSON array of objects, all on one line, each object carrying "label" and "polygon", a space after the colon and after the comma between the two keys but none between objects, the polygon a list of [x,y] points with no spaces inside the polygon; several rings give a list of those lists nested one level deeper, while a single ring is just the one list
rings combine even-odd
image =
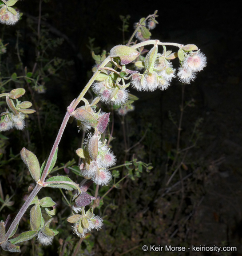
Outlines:
[{"label": "broad pale green leaf with pinkish lower edge at the main stem's upper bend", "polygon": [[126,45],[117,45],[111,48],[110,57],[119,57],[121,65],[126,65],[134,61],[139,56],[139,52]]}]

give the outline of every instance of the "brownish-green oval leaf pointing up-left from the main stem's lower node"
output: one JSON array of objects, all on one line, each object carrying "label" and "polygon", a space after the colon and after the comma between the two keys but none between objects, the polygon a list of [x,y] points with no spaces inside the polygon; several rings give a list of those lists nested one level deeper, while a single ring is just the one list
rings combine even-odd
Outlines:
[{"label": "brownish-green oval leaf pointing up-left from the main stem's lower node", "polygon": [[32,178],[37,182],[40,179],[40,164],[34,153],[23,148],[20,152],[20,156],[27,165]]}]

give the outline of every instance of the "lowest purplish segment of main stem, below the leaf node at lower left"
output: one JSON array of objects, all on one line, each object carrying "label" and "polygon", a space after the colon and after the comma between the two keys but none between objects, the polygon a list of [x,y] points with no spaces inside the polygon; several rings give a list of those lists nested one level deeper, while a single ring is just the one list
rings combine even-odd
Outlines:
[{"label": "lowest purplish segment of main stem, below the leaf node at lower left", "polygon": [[40,186],[39,184],[36,184],[35,188],[31,192],[31,194],[28,196],[24,205],[22,206],[22,208],[20,209],[20,211],[16,215],[15,219],[13,220],[11,226],[8,228],[8,232],[6,233],[6,235],[4,237],[4,241],[7,241],[9,236],[11,236],[11,234],[14,231],[14,229],[16,228],[17,224],[20,222],[20,219],[22,218],[22,216],[26,212],[27,208],[29,207],[30,203],[32,202],[34,197],[38,194],[38,192],[40,191],[41,188],[42,188],[42,186]]}]

